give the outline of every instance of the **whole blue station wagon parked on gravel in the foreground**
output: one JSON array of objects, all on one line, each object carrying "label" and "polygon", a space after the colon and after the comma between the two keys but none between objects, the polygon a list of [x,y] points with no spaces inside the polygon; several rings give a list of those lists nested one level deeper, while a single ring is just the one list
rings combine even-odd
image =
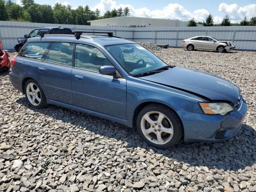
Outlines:
[{"label": "whole blue station wagon parked on gravel in the foreground", "polygon": [[12,85],[32,107],[53,104],[137,127],[156,148],[231,138],[246,116],[233,83],[169,66],[110,34],[30,38],[11,64]]}]

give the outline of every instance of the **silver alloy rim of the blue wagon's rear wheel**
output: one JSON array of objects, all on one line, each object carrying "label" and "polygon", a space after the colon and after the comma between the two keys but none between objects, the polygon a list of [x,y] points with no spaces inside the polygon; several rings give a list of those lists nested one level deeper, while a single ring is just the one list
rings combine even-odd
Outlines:
[{"label": "silver alloy rim of the blue wagon's rear wheel", "polygon": [[38,106],[41,102],[41,92],[38,86],[34,83],[29,83],[26,88],[28,100],[34,106]]}]

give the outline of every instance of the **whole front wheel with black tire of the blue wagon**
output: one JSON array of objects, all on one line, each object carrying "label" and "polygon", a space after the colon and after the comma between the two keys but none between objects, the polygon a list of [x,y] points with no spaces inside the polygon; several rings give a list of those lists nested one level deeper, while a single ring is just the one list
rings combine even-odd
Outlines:
[{"label": "whole front wheel with black tire of the blue wagon", "polygon": [[137,116],[136,125],[142,139],[150,146],[160,149],[176,145],[183,134],[178,116],[170,108],[159,104],[150,104],[142,108]]}]

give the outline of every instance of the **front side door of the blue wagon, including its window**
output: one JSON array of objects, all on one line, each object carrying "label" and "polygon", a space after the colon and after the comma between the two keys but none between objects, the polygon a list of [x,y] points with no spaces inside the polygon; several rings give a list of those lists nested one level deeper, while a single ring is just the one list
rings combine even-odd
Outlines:
[{"label": "front side door of the blue wagon, including its window", "polygon": [[100,66],[106,65],[112,63],[98,48],[76,44],[71,74],[74,105],[125,119],[126,80],[100,74]]}]

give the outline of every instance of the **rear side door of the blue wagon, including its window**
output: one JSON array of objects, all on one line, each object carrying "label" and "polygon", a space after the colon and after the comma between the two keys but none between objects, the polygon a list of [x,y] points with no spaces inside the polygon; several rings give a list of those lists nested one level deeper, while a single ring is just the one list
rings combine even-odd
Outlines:
[{"label": "rear side door of the blue wagon, including its window", "polygon": [[55,42],[38,62],[37,76],[48,99],[73,104],[71,71],[74,43]]}]

